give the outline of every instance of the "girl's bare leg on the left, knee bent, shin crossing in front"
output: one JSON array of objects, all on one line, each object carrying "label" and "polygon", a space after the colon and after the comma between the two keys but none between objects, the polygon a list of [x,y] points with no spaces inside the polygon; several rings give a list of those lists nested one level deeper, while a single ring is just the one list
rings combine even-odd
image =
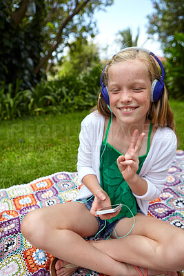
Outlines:
[{"label": "girl's bare leg on the left, knee bent, shin crossing in front", "polygon": [[33,246],[65,262],[105,275],[136,275],[133,268],[117,262],[83,239],[94,235],[98,228],[96,218],[90,215],[84,204],[76,202],[33,210],[21,225],[23,236]]}]

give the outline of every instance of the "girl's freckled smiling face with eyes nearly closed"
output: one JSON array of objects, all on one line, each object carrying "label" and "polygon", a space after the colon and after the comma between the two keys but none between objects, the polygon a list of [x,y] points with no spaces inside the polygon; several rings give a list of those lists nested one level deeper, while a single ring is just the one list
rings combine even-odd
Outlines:
[{"label": "girl's freckled smiling face with eyes nearly closed", "polygon": [[108,70],[110,108],[120,124],[144,124],[150,108],[151,81],[138,59],[122,61]]}]

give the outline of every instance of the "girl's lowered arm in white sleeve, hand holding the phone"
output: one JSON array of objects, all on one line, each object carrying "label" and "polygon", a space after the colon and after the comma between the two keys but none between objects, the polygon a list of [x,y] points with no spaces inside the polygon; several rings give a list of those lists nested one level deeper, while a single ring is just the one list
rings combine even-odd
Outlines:
[{"label": "girl's lowered arm in white sleeve, hand holding the phone", "polygon": [[[93,114],[91,113],[90,115],[85,117],[85,119],[83,119],[81,123],[81,132],[79,135],[80,145],[78,149],[77,170],[79,173],[79,179],[81,179],[83,184],[94,195],[94,202],[90,210],[90,213],[94,216],[96,216],[97,210],[111,205],[110,198],[108,197],[107,193],[105,193],[105,191],[101,188],[96,176],[96,170],[94,168],[94,165],[92,165],[92,159],[94,158],[94,144],[99,144],[99,151],[96,150],[95,155],[99,155],[100,158],[100,147],[103,137],[103,124],[104,118],[102,118],[101,116],[93,116]],[[101,132],[99,131],[100,129]],[[98,135],[95,135],[95,131],[97,131]],[[101,215],[100,217],[101,219],[111,219],[112,217],[115,217],[118,213],[119,211],[110,215]]]}]

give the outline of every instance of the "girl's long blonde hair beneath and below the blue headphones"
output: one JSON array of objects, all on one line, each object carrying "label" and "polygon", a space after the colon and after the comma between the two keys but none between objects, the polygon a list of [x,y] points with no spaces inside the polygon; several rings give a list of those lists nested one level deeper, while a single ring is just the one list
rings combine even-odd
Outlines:
[{"label": "girl's long blonde hair beneath and below the blue headphones", "polygon": [[[154,81],[154,79],[158,79],[160,81],[161,75],[159,73],[159,68],[156,66],[154,58],[143,50],[134,50],[127,48],[127,50],[123,50],[123,52],[119,52],[117,55],[112,57],[110,62],[105,67],[102,77],[104,86],[108,87],[108,70],[111,66],[119,62],[134,59],[141,61],[146,66],[151,83]],[[101,115],[103,115],[103,117],[111,116],[111,112],[107,106],[107,103],[105,103],[101,92],[99,93],[99,100],[97,102],[96,109]],[[174,132],[176,132],[174,115],[169,105],[166,88],[164,88],[163,94],[159,101],[150,102],[150,109],[147,112],[147,119],[149,119],[152,124],[156,126],[156,128],[158,128],[159,126],[168,126],[172,130],[174,130]]]}]

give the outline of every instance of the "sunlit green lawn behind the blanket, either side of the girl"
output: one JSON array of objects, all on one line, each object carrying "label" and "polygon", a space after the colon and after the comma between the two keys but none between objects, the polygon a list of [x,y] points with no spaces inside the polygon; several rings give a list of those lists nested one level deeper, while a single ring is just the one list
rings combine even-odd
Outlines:
[{"label": "sunlit green lawn behind the blanket, either side of the girl", "polygon": [[[184,103],[170,101],[184,150]],[[0,188],[59,171],[76,171],[79,131],[88,111],[1,122]]]}]

